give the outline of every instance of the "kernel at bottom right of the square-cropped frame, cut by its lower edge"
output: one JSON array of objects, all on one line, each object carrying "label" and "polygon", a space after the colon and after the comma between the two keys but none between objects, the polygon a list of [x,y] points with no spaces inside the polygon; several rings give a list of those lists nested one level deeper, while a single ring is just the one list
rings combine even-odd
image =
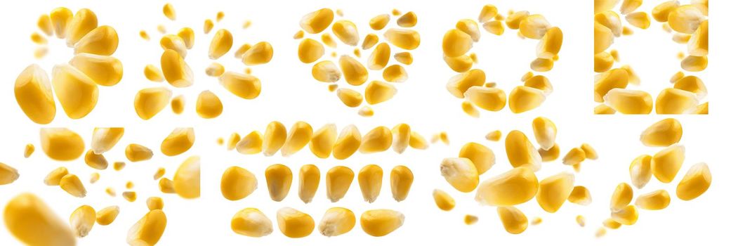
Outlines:
[{"label": "kernel at bottom right of the square-cropped frame, cut by its lower edge", "polygon": [[690,112],[700,103],[696,94],[681,89],[666,88],[656,98],[656,113],[663,115]]}]

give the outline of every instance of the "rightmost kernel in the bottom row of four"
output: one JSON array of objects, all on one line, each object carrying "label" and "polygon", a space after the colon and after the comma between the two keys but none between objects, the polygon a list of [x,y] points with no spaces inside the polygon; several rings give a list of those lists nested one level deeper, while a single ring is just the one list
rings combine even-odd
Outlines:
[{"label": "rightmost kernel in the bottom row of four", "polygon": [[386,236],[400,228],[405,216],[389,209],[376,209],[362,213],[360,223],[365,233],[370,236]]}]

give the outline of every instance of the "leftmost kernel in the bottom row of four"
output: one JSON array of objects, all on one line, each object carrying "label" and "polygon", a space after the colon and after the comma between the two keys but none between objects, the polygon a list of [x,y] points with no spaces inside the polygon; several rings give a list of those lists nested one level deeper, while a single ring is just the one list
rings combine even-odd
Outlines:
[{"label": "leftmost kernel in the bottom row of four", "polygon": [[258,208],[244,208],[231,219],[233,232],[251,237],[262,237],[272,233],[272,221]]}]

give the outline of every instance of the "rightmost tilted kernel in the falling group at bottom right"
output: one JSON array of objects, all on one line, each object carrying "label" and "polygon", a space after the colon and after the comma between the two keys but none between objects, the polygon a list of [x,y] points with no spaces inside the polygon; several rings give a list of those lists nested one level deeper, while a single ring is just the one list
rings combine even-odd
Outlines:
[{"label": "rightmost tilted kernel in the falling group at bottom right", "polygon": [[692,165],[677,185],[677,197],[689,201],[700,197],[712,183],[712,174],[706,163]]}]

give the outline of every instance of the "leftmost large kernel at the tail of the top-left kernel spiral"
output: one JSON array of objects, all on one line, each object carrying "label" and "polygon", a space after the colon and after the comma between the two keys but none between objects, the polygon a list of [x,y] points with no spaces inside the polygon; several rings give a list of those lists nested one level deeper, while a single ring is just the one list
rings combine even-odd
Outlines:
[{"label": "leftmost large kernel at the tail of the top-left kernel spiral", "polygon": [[56,103],[46,71],[36,64],[27,66],[15,79],[15,100],[30,120],[51,123],[56,115]]}]

